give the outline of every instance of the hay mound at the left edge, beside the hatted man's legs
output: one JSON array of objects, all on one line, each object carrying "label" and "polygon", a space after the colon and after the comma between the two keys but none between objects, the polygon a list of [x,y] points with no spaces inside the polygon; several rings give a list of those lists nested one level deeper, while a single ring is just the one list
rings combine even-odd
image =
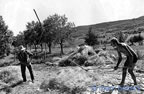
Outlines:
[{"label": "hay mound at the left edge, beside the hatted man's legs", "polygon": [[12,88],[21,82],[21,74],[18,67],[1,67],[0,70],[0,94],[2,92],[11,93]]}]

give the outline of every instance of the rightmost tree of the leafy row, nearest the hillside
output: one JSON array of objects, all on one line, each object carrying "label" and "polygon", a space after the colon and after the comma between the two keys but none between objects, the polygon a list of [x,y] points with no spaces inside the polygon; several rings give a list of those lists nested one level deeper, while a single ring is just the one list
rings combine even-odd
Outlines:
[{"label": "rightmost tree of the leafy row, nearest the hillside", "polygon": [[56,16],[56,38],[55,42],[60,45],[61,48],[61,54],[64,54],[63,52],[63,45],[64,42],[69,41],[72,39],[71,34],[75,32],[75,24],[72,22],[68,22],[68,18],[65,15],[59,16],[55,14]]}]

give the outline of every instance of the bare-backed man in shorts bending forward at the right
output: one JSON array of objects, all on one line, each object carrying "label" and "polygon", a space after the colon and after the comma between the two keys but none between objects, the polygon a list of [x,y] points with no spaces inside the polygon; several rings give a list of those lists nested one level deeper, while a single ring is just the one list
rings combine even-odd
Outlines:
[{"label": "bare-backed man in shorts bending forward at the right", "polygon": [[137,54],[129,45],[127,45],[126,43],[120,43],[117,38],[111,39],[111,45],[118,52],[118,56],[119,56],[118,63],[114,67],[115,70],[118,69],[118,66],[122,61],[122,53],[127,57],[127,59],[124,63],[124,67],[122,69],[122,71],[123,71],[122,80],[121,80],[121,83],[119,85],[121,85],[121,86],[124,85],[127,70],[130,73],[130,75],[134,81],[134,85],[137,85],[136,77],[133,73],[134,66],[138,60]]}]

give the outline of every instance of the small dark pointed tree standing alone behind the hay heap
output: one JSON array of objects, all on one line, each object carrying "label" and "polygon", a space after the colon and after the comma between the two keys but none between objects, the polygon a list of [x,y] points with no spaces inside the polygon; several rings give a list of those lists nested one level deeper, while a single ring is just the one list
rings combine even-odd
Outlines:
[{"label": "small dark pointed tree standing alone behind the hay heap", "polygon": [[89,27],[88,33],[85,37],[85,43],[87,43],[90,46],[98,44],[97,36],[92,32],[92,27]]}]

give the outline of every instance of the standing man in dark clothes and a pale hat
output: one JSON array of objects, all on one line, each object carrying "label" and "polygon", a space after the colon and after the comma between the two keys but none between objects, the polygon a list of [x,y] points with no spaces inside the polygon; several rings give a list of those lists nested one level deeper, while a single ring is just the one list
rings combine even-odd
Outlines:
[{"label": "standing man in dark clothes and a pale hat", "polygon": [[21,74],[23,78],[23,82],[26,82],[26,67],[28,68],[31,76],[32,83],[34,83],[34,75],[33,75],[33,70],[31,66],[31,58],[32,53],[28,52],[23,45],[19,46],[19,53],[17,54],[17,58],[20,61],[21,64]]}]

